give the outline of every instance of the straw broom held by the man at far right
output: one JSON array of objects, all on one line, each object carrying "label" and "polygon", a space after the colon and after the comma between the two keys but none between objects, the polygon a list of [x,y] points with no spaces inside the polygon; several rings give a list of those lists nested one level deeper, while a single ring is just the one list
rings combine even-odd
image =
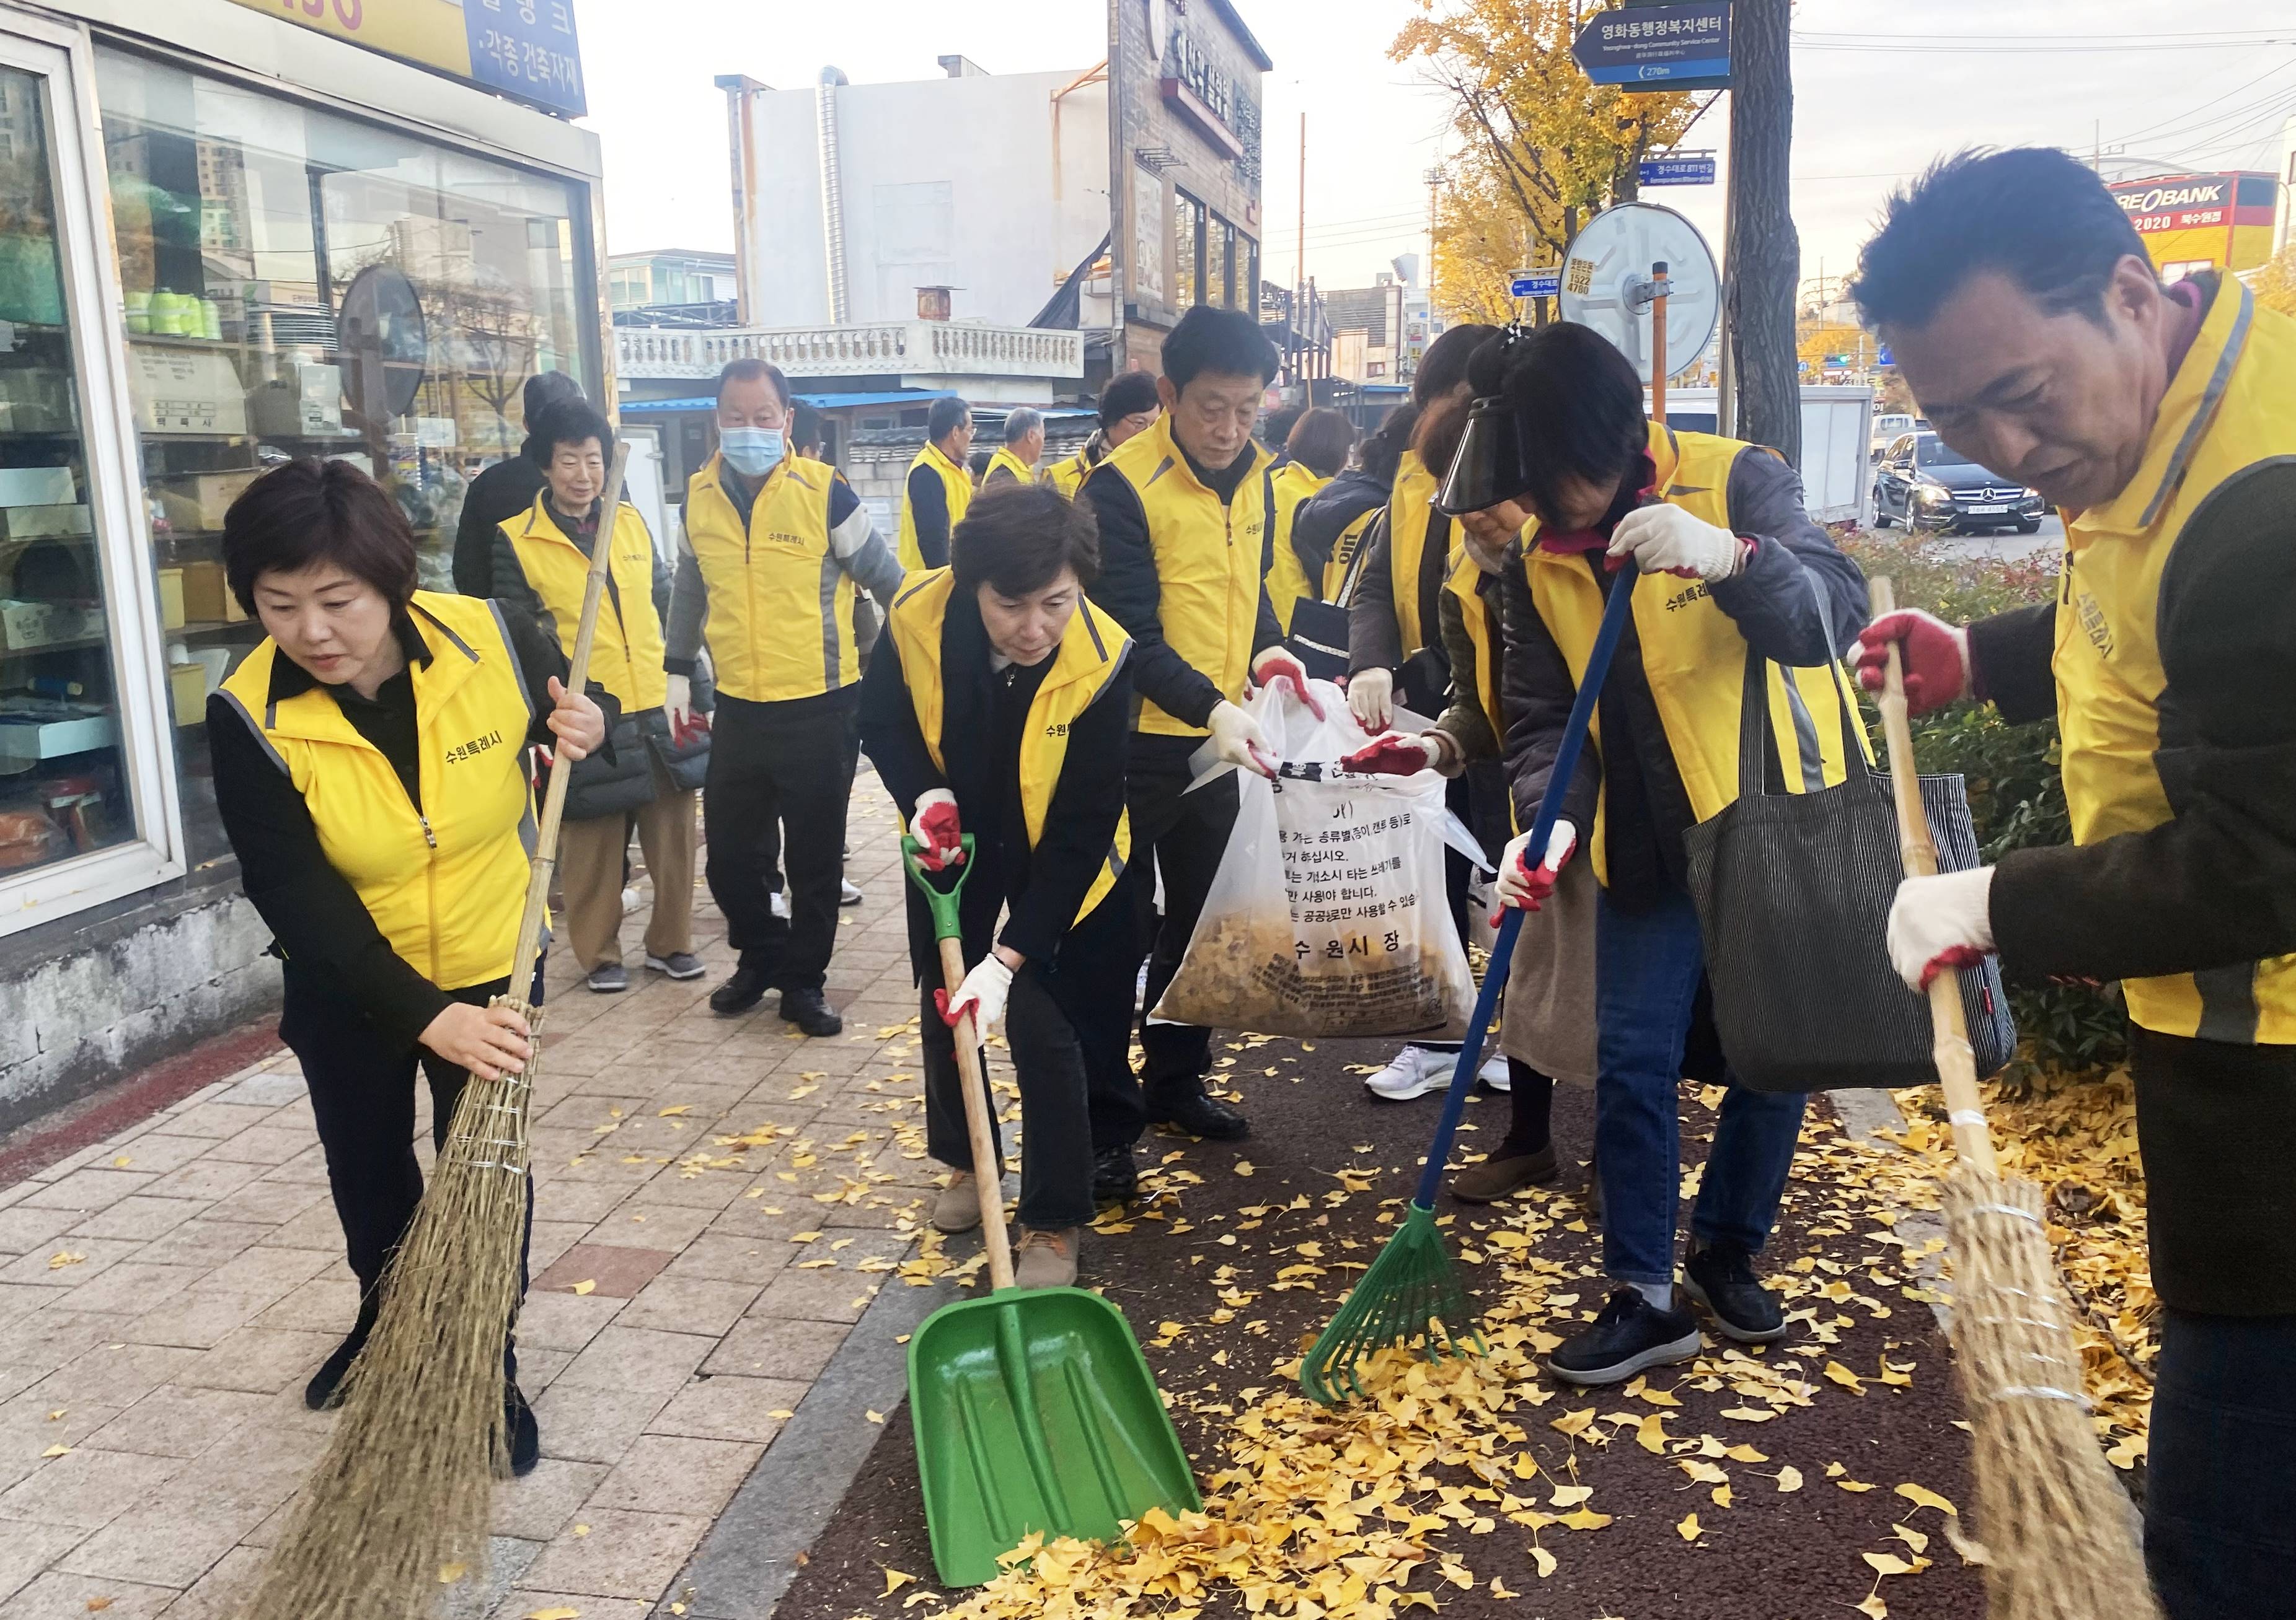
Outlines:
[{"label": "straw broom held by the man at far right", "polygon": [[[1894,606],[1890,581],[1874,581],[1874,613]],[[1903,656],[1894,645],[1880,723],[1906,877],[1933,877],[1938,849],[1922,810]],[[1945,1184],[1945,1235],[1954,1255],[1954,1354],[1975,1436],[1977,1531],[1988,1556],[1986,1613],[1993,1620],[2158,1615],[2128,1496],[2096,1448],[2041,1189],[2002,1179],[1993,1161],[1958,975],[1931,980],[1929,1019],[1958,1161]]]}]

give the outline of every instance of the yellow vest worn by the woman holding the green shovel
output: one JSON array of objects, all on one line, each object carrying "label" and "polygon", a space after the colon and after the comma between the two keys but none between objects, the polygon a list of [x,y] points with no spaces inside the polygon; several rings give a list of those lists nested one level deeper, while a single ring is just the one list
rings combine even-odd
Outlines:
[{"label": "yellow vest worn by the woman holding the green shovel", "polygon": [[[893,647],[900,654],[900,675],[909,686],[909,702],[916,707],[916,730],[925,734],[925,753],[932,755],[934,769],[944,776],[948,764],[941,757],[941,622],[948,617],[953,590],[955,576],[948,569],[930,569],[921,578],[902,583],[900,597],[893,599],[893,613],[886,617]],[[1054,652],[1056,663],[1029,702],[1029,730],[1022,732],[1019,743],[1019,812],[1029,828],[1029,849],[1035,849],[1045,838],[1052,792],[1068,762],[1068,727],[1100,700],[1130,652],[1132,638],[1125,636],[1123,624],[1091,601],[1077,603],[1068,631],[1061,633],[1061,647]],[[1109,858],[1084,893],[1084,906],[1077,909],[1079,922],[1109,897],[1130,858],[1132,819],[1123,815],[1116,821]]]}]

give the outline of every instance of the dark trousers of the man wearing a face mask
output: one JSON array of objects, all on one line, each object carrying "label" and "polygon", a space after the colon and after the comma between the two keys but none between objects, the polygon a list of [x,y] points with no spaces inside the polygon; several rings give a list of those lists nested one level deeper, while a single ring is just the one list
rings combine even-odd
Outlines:
[{"label": "dark trousers of the man wearing a face mask", "polygon": [[[726,913],[726,943],[774,989],[820,989],[838,943],[845,812],[861,748],[859,686],[792,702],[719,693],[709,725],[703,824],[709,895]],[[774,888],[790,877],[790,916]]]}]

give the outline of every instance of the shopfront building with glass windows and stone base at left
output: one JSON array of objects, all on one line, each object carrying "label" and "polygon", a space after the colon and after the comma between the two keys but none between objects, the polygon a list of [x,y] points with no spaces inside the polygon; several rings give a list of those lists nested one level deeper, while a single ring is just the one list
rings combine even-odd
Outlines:
[{"label": "shopfront building with glass windows and stone base at left", "polygon": [[526,376],[613,397],[572,7],[393,55],[374,9],[0,0],[0,1129],[276,1003],[207,764],[262,638],[225,507],[351,461],[452,590]]}]

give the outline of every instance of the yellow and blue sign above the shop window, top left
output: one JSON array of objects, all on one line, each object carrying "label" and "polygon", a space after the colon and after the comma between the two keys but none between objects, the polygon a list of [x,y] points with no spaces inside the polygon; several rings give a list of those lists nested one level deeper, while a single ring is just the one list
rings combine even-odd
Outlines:
[{"label": "yellow and blue sign above the shop window, top left", "polygon": [[528,101],[588,112],[574,0],[234,0],[354,46]]}]

